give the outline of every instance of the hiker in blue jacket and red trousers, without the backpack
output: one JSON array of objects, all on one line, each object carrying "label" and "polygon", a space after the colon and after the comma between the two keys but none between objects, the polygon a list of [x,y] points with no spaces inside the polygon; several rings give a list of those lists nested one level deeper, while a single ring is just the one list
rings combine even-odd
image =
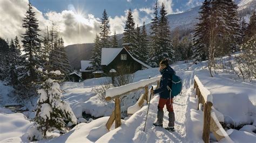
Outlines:
[{"label": "hiker in blue jacket and red trousers, without the backpack", "polygon": [[169,112],[169,124],[166,127],[167,130],[174,131],[174,112],[173,112],[173,97],[170,97],[170,90],[167,88],[167,85],[171,88],[172,84],[172,75],[175,74],[175,71],[169,66],[169,62],[167,59],[161,60],[160,62],[160,86],[156,90],[151,90],[152,94],[159,94],[159,102],[158,102],[158,111],[157,111],[157,121],[153,123],[155,126],[163,127],[163,118],[164,118],[164,105],[166,105],[167,111]]}]

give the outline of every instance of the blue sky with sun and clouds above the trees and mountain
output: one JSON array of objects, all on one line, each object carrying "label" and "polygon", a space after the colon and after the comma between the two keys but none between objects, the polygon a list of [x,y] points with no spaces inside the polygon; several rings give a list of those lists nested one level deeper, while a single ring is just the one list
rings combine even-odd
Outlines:
[{"label": "blue sky with sun and clouds above the trees and mountain", "polygon": [[[45,35],[46,27],[58,31],[66,45],[90,43],[100,32],[100,18],[104,9],[110,19],[111,34],[123,33],[126,13],[133,12],[134,22],[142,26],[153,17],[155,0],[30,0],[39,22],[40,34]],[[165,4],[168,14],[184,12],[201,5],[203,0],[158,0]],[[0,37],[21,39],[24,29],[22,19],[28,9],[28,0],[0,0]]]}]

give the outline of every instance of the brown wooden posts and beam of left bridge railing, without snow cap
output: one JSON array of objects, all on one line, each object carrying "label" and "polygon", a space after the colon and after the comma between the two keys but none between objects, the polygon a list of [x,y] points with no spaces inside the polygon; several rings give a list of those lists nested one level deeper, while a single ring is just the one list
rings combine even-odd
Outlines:
[{"label": "brown wooden posts and beam of left bridge railing, without snow cap", "polygon": [[[160,77],[155,77],[155,78],[160,78]],[[151,80],[152,81],[152,80]],[[107,123],[106,123],[106,128],[107,130],[110,130],[112,124],[114,123],[115,121],[115,128],[119,127],[121,125],[121,106],[120,106],[120,97],[124,96],[124,95],[127,95],[127,94],[130,94],[131,92],[135,92],[135,91],[138,91],[140,89],[144,89],[144,94],[142,95],[143,97],[140,97],[139,100],[137,101],[137,103],[139,104],[139,106],[141,107],[144,103],[144,99],[149,102],[149,96],[148,96],[148,87],[150,85],[152,85],[153,83],[156,83],[157,82],[157,86],[159,87],[159,79],[157,81],[153,81],[153,82],[150,82],[146,85],[144,85],[143,87],[137,87],[136,89],[131,89],[129,91],[126,91],[122,94],[118,94],[118,95],[114,95],[112,97],[110,96],[107,96],[105,99],[106,101],[110,101],[111,99],[114,99],[114,111],[112,112],[109,120],[107,120]],[[137,82],[139,83],[139,82]],[[121,87],[117,87],[115,90],[117,89],[124,89],[125,86],[129,86],[129,85],[123,85]],[[111,89],[108,89],[107,91],[110,91]],[[107,93],[106,91],[106,93]],[[136,104],[137,104],[136,103]]]}]

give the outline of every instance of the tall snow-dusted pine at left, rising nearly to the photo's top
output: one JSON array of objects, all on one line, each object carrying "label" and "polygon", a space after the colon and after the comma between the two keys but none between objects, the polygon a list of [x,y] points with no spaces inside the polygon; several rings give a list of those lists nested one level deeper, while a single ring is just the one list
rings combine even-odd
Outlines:
[{"label": "tall snow-dusted pine at left, rising nearly to the photo's top", "polygon": [[[23,70],[19,73],[19,81],[22,83],[21,87],[17,89],[23,97],[31,97],[36,95],[36,82],[41,80],[41,75],[37,73],[37,68],[41,66],[41,58],[39,51],[41,48],[41,40],[39,39],[39,26],[36,19],[36,13],[33,12],[31,3],[23,19],[22,27],[25,28],[25,33],[22,34],[23,52],[25,52],[24,59],[26,61],[23,65]],[[26,91],[22,91],[26,90]],[[28,91],[29,90],[29,91]]]}]

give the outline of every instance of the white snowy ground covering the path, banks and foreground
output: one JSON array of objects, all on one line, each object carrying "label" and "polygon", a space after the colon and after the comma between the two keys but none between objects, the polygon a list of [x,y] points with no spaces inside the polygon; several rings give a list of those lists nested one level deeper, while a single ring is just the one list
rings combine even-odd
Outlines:
[{"label": "white snowy ground covering the path, banks and foreground", "polygon": [[[80,83],[65,82],[62,85],[65,101],[70,103],[77,118],[82,117],[86,112],[95,117],[102,117],[90,123],[80,123],[73,129],[60,137],[41,140],[42,142],[203,142],[203,112],[197,109],[197,99],[194,98],[193,82],[196,74],[205,87],[212,92],[213,106],[226,116],[231,117],[236,123],[247,123],[238,130],[234,130],[230,137],[235,142],[253,142],[256,134],[256,83],[242,82],[235,75],[221,73],[215,74],[213,78],[207,71],[206,62],[199,65],[179,62],[172,66],[177,75],[183,79],[183,93],[174,98],[174,113],[176,115],[176,132],[166,131],[164,128],[154,127],[152,123],[156,120],[157,104],[159,96],[152,98],[145,132],[143,132],[147,105],[134,113],[131,117],[122,120],[122,125],[111,131],[107,131],[105,124],[113,111],[113,103],[106,105],[99,97],[92,92],[93,88],[100,86],[107,78],[94,78]],[[133,82],[159,75],[158,68],[137,71]],[[3,88],[0,86],[0,88]],[[139,94],[138,94],[139,95]],[[129,95],[130,96],[130,95]],[[124,106],[131,106],[129,98],[123,103]],[[127,108],[126,108],[127,109]],[[123,109],[125,110],[125,109]],[[166,109],[164,126],[168,124],[168,112]],[[9,110],[0,108],[0,142],[7,141],[28,141],[22,137],[31,126],[31,123],[24,118],[17,118],[21,113],[12,113]],[[14,120],[14,118],[17,118]],[[14,120],[14,121],[11,121]],[[229,121],[229,120],[225,120]],[[19,127],[20,130],[11,130],[12,127]],[[9,128],[8,128],[9,127]],[[5,135],[9,134],[9,135]],[[212,141],[215,139],[212,137]],[[41,142],[40,141],[40,142]],[[225,140],[223,140],[225,141]]]}]

